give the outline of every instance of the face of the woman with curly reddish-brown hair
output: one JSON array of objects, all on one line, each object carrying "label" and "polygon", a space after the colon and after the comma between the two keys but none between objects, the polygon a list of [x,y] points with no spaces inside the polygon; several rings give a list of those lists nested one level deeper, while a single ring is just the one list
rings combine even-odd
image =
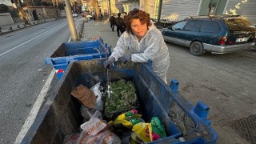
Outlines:
[{"label": "face of the woman with curly reddish-brown hair", "polygon": [[133,19],[130,23],[131,30],[137,36],[137,38],[142,38],[147,31],[146,23],[142,23],[139,19]]}]

